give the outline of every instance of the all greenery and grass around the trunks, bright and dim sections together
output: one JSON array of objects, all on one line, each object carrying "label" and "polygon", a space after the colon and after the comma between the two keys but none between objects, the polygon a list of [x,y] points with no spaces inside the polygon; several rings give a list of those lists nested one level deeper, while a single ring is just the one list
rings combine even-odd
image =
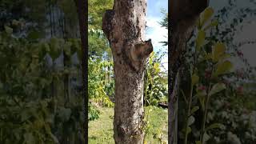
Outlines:
[{"label": "all greenery and grass around the trunks, bright and dim sections together", "polygon": [[[113,142],[113,61],[101,30],[102,12],[112,6],[113,1],[89,1],[92,143]],[[236,18],[227,21],[232,10]],[[235,43],[234,35],[256,13],[238,9],[235,1],[213,13],[207,9],[202,14],[187,43],[178,137],[186,143],[254,144],[256,69],[239,47],[255,41]],[[74,3],[2,0],[0,19],[0,143],[84,142],[81,42]],[[168,27],[167,14],[161,25]],[[234,57],[242,59],[243,70],[234,70],[229,59]],[[167,75],[160,69],[161,58],[151,54],[145,72],[147,143],[166,141],[167,113],[161,106],[167,101]]]}]

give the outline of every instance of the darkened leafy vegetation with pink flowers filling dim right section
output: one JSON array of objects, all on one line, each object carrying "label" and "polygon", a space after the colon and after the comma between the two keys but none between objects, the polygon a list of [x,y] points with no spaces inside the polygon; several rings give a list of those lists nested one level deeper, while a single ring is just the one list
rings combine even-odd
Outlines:
[{"label": "darkened leafy vegetation with pink flowers filling dim right section", "polygon": [[[234,44],[236,32],[242,29],[239,24],[252,11],[238,10],[241,15],[228,21],[230,12],[226,9],[234,9],[231,8],[234,3],[224,6],[215,17],[214,10],[207,8],[188,42],[190,50],[186,53],[180,95],[180,106],[186,109],[178,111],[181,143],[254,143],[256,140],[255,68],[239,50],[242,44]],[[234,67],[231,61],[234,57],[242,59],[244,70]]]}]

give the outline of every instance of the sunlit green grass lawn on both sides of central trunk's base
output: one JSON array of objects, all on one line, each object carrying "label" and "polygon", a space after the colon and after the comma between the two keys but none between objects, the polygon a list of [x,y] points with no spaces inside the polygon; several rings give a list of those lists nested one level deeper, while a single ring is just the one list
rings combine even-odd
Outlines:
[{"label": "sunlit green grass lawn on both sides of central trunk's base", "polygon": [[[114,144],[113,118],[114,108],[99,108],[101,114],[93,122],[89,122],[90,144]],[[158,107],[146,107],[146,114],[150,110],[149,128],[146,133],[147,144],[165,143],[167,141],[167,110]],[[162,142],[161,142],[162,141]]]}]

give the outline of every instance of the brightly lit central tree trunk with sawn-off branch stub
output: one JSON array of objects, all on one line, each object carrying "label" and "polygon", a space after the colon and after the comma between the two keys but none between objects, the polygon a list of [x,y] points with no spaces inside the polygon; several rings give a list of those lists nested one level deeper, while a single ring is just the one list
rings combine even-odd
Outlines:
[{"label": "brightly lit central tree trunk with sawn-off branch stub", "polygon": [[114,60],[114,141],[142,144],[143,76],[153,51],[145,41],[146,0],[115,0],[106,10],[102,30],[110,42]]}]

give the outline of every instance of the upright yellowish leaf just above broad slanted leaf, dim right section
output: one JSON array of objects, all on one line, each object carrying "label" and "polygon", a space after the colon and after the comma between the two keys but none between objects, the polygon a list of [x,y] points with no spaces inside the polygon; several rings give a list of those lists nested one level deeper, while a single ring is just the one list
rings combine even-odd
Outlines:
[{"label": "upright yellowish leaf just above broad slanted leaf, dim right section", "polygon": [[218,62],[223,54],[225,54],[226,47],[222,42],[218,42],[214,46],[214,50],[212,52],[212,57],[214,62]]}]

